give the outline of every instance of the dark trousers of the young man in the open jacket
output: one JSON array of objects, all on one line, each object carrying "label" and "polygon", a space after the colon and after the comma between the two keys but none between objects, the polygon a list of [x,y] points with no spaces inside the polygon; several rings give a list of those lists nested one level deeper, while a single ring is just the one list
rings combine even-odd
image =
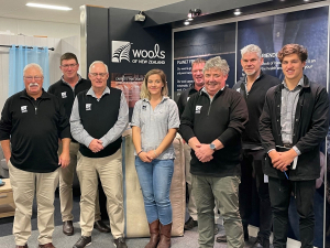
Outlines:
[{"label": "dark trousers of the young man in the open jacket", "polygon": [[299,214],[299,234],[302,248],[314,247],[314,195],[316,181],[289,181],[270,177],[270,195],[273,211],[274,248],[286,247],[288,207],[292,193]]}]

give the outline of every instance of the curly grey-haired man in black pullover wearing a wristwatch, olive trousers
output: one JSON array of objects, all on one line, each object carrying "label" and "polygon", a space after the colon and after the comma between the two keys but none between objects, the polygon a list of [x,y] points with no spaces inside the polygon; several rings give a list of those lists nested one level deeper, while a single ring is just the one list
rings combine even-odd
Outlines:
[{"label": "curly grey-haired man in black pullover wearing a wristwatch, olive trousers", "polygon": [[229,66],[220,56],[204,67],[205,87],[191,96],[179,131],[191,147],[190,173],[198,215],[199,247],[215,244],[215,200],[228,246],[244,246],[239,213],[241,133],[248,121],[243,97],[226,87]]}]

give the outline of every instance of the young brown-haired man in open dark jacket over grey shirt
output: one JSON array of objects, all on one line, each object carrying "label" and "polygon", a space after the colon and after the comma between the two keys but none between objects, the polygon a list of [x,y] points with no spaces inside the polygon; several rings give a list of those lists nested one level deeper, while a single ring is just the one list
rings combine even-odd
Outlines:
[{"label": "young brown-haired man in open dark jacket over grey shirt", "polygon": [[320,176],[320,143],[329,123],[326,88],[304,75],[307,50],[285,45],[277,54],[285,78],[266,94],[260,133],[268,153],[274,247],[286,247],[292,192],[299,213],[301,247],[314,247],[314,195]]}]

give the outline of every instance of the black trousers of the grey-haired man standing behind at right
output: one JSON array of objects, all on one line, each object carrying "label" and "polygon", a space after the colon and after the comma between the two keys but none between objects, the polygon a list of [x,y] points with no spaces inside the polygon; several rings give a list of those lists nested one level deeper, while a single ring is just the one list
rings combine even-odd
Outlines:
[{"label": "black trousers of the grey-haired man standing behind at right", "polygon": [[[252,209],[252,188],[256,184],[260,200],[260,230],[257,237],[270,239],[272,228],[272,208],[268,184],[264,183],[264,150],[244,150],[241,162],[240,214],[243,226],[248,227]],[[253,181],[253,177],[255,181]]]}]

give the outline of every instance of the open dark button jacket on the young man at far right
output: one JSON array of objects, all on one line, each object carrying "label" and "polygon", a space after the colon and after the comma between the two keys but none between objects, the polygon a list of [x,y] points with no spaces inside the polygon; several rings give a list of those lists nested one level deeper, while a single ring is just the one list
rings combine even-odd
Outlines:
[{"label": "open dark button jacket on the young man at far right", "polygon": [[[280,133],[280,98],[283,84],[271,88],[266,94],[263,114],[260,119],[260,133],[266,152],[283,145]],[[309,82],[304,76],[294,122],[293,144],[301,154],[296,170],[288,170],[292,181],[315,180],[320,176],[320,143],[324,140],[329,126],[329,99],[324,87]],[[285,180],[285,175],[274,169],[266,158],[265,174]]]}]

